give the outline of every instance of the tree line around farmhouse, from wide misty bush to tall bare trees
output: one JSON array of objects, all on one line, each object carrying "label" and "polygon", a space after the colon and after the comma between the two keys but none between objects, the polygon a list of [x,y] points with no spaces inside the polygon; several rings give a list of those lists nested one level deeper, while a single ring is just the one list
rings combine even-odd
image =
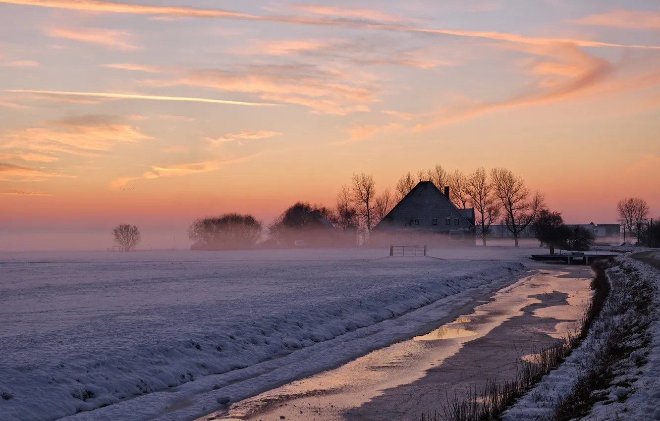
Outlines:
[{"label": "tree line around farmhouse, from wide misty bush to tall bare trees", "polygon": [[466,176],[436,165],[415,174],[408,172],[399,178],[394,189],[385,187],[381,191],[376,188],[372,174],[353,174],[350,183],[339,189],[335,207],[298,202],[267,227],[249,214],[198,218],[189,227],[189,238],[200,249],[245,248],[255,244],[265,228],[269,237],[267,245],[292,245],[306,238],[321,242],[313,234],[326,230],[328,237],[327,228],[334,228],[335,232],[345,234],[335,236],[332,239],[335,243],[354,244],[354,235],[360,230],[371,232],[419,181],[431,181],[441,191],[449,187],[449,199],[459,209],[473,207],[479,227],[477,235],[484,245],[490,226],[501,222],[508,227],[517,246],[520,234],[546,208],[544,195],[539,191],[532,193],[523,178],[506,168],[493,168],[490,172],[478,168]]}]

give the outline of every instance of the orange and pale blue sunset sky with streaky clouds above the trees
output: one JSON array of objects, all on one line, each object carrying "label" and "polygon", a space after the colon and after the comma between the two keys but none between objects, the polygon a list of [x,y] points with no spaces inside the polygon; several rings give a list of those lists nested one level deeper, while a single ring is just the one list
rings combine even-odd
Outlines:
[{"label": "orange and pale blue sunset sky with streaky clouds above the trees", "polygon": [[436,164],[660,216],[660,2],[0,0],[0,249],[171,247]]}]

